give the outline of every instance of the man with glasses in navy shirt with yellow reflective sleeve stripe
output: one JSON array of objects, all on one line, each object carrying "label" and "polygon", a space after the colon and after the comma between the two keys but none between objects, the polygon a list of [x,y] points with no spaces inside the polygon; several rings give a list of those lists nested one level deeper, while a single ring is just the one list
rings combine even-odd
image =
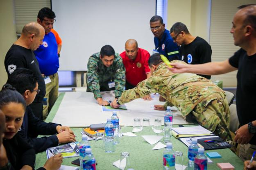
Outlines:
[{"label": "man with glasses in navy shirt with yellow reflective sleeve stripe", "polygon": [[169,31],[165,29],[161,16],[155,15],[150,19],[150,29],[154,34],[154,51],[163,54],[169,61],[178,60],[179,47],[173,42]]}]

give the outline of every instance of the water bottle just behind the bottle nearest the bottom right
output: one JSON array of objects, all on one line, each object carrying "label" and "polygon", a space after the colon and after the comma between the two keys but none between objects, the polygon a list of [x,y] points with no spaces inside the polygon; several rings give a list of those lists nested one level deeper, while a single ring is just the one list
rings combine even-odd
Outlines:
[{"label": "water bottle just behind the bottle nearest the bottom right", "polygon": [[194,161],[198,148],[197,139],[192,139],[192,143],[188,147],[188,170],[194,170]]}]

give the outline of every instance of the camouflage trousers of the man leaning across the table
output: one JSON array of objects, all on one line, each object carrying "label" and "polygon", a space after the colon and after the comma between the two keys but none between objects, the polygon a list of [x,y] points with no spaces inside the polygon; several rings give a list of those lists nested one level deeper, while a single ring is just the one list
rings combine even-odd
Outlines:
[{"label": "camouflage trousers of the man leaning across the table", "polygon": [[229,104],[224,93],[213,93],[193,109],[197,122],[229,144],[234,144],[229,132]]}]

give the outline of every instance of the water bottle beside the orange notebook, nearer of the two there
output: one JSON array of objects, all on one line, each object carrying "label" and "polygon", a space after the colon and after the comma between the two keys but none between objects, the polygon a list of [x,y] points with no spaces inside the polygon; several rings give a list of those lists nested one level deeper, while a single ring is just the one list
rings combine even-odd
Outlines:
[{"label": "water bottle beside the orange notebook, nearer of the two there", "polygon": [[115,152],[114,146],[114,125],[111,122],[111,119],[107,119],[105,125],[105,137],[104,137],[104,145],[105,145],[105,152]]}]

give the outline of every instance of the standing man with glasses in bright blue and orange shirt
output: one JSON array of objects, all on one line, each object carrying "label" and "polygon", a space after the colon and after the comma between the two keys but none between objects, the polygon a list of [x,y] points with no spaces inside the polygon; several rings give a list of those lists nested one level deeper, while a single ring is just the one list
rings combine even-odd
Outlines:
[{"label": "standing man with glasses in bright blue and orange shirt", "polygon": [[54,18],[55,13],[47,7],[42,8],[37,15],[37,22],[45,29],[43,44],[34,51],[46,86],[43,119],[47,117],[59,93],[59,75],[57,71],[59,69],[59,53],[62,41],[59,34],[52,29],[56,21]]}]

